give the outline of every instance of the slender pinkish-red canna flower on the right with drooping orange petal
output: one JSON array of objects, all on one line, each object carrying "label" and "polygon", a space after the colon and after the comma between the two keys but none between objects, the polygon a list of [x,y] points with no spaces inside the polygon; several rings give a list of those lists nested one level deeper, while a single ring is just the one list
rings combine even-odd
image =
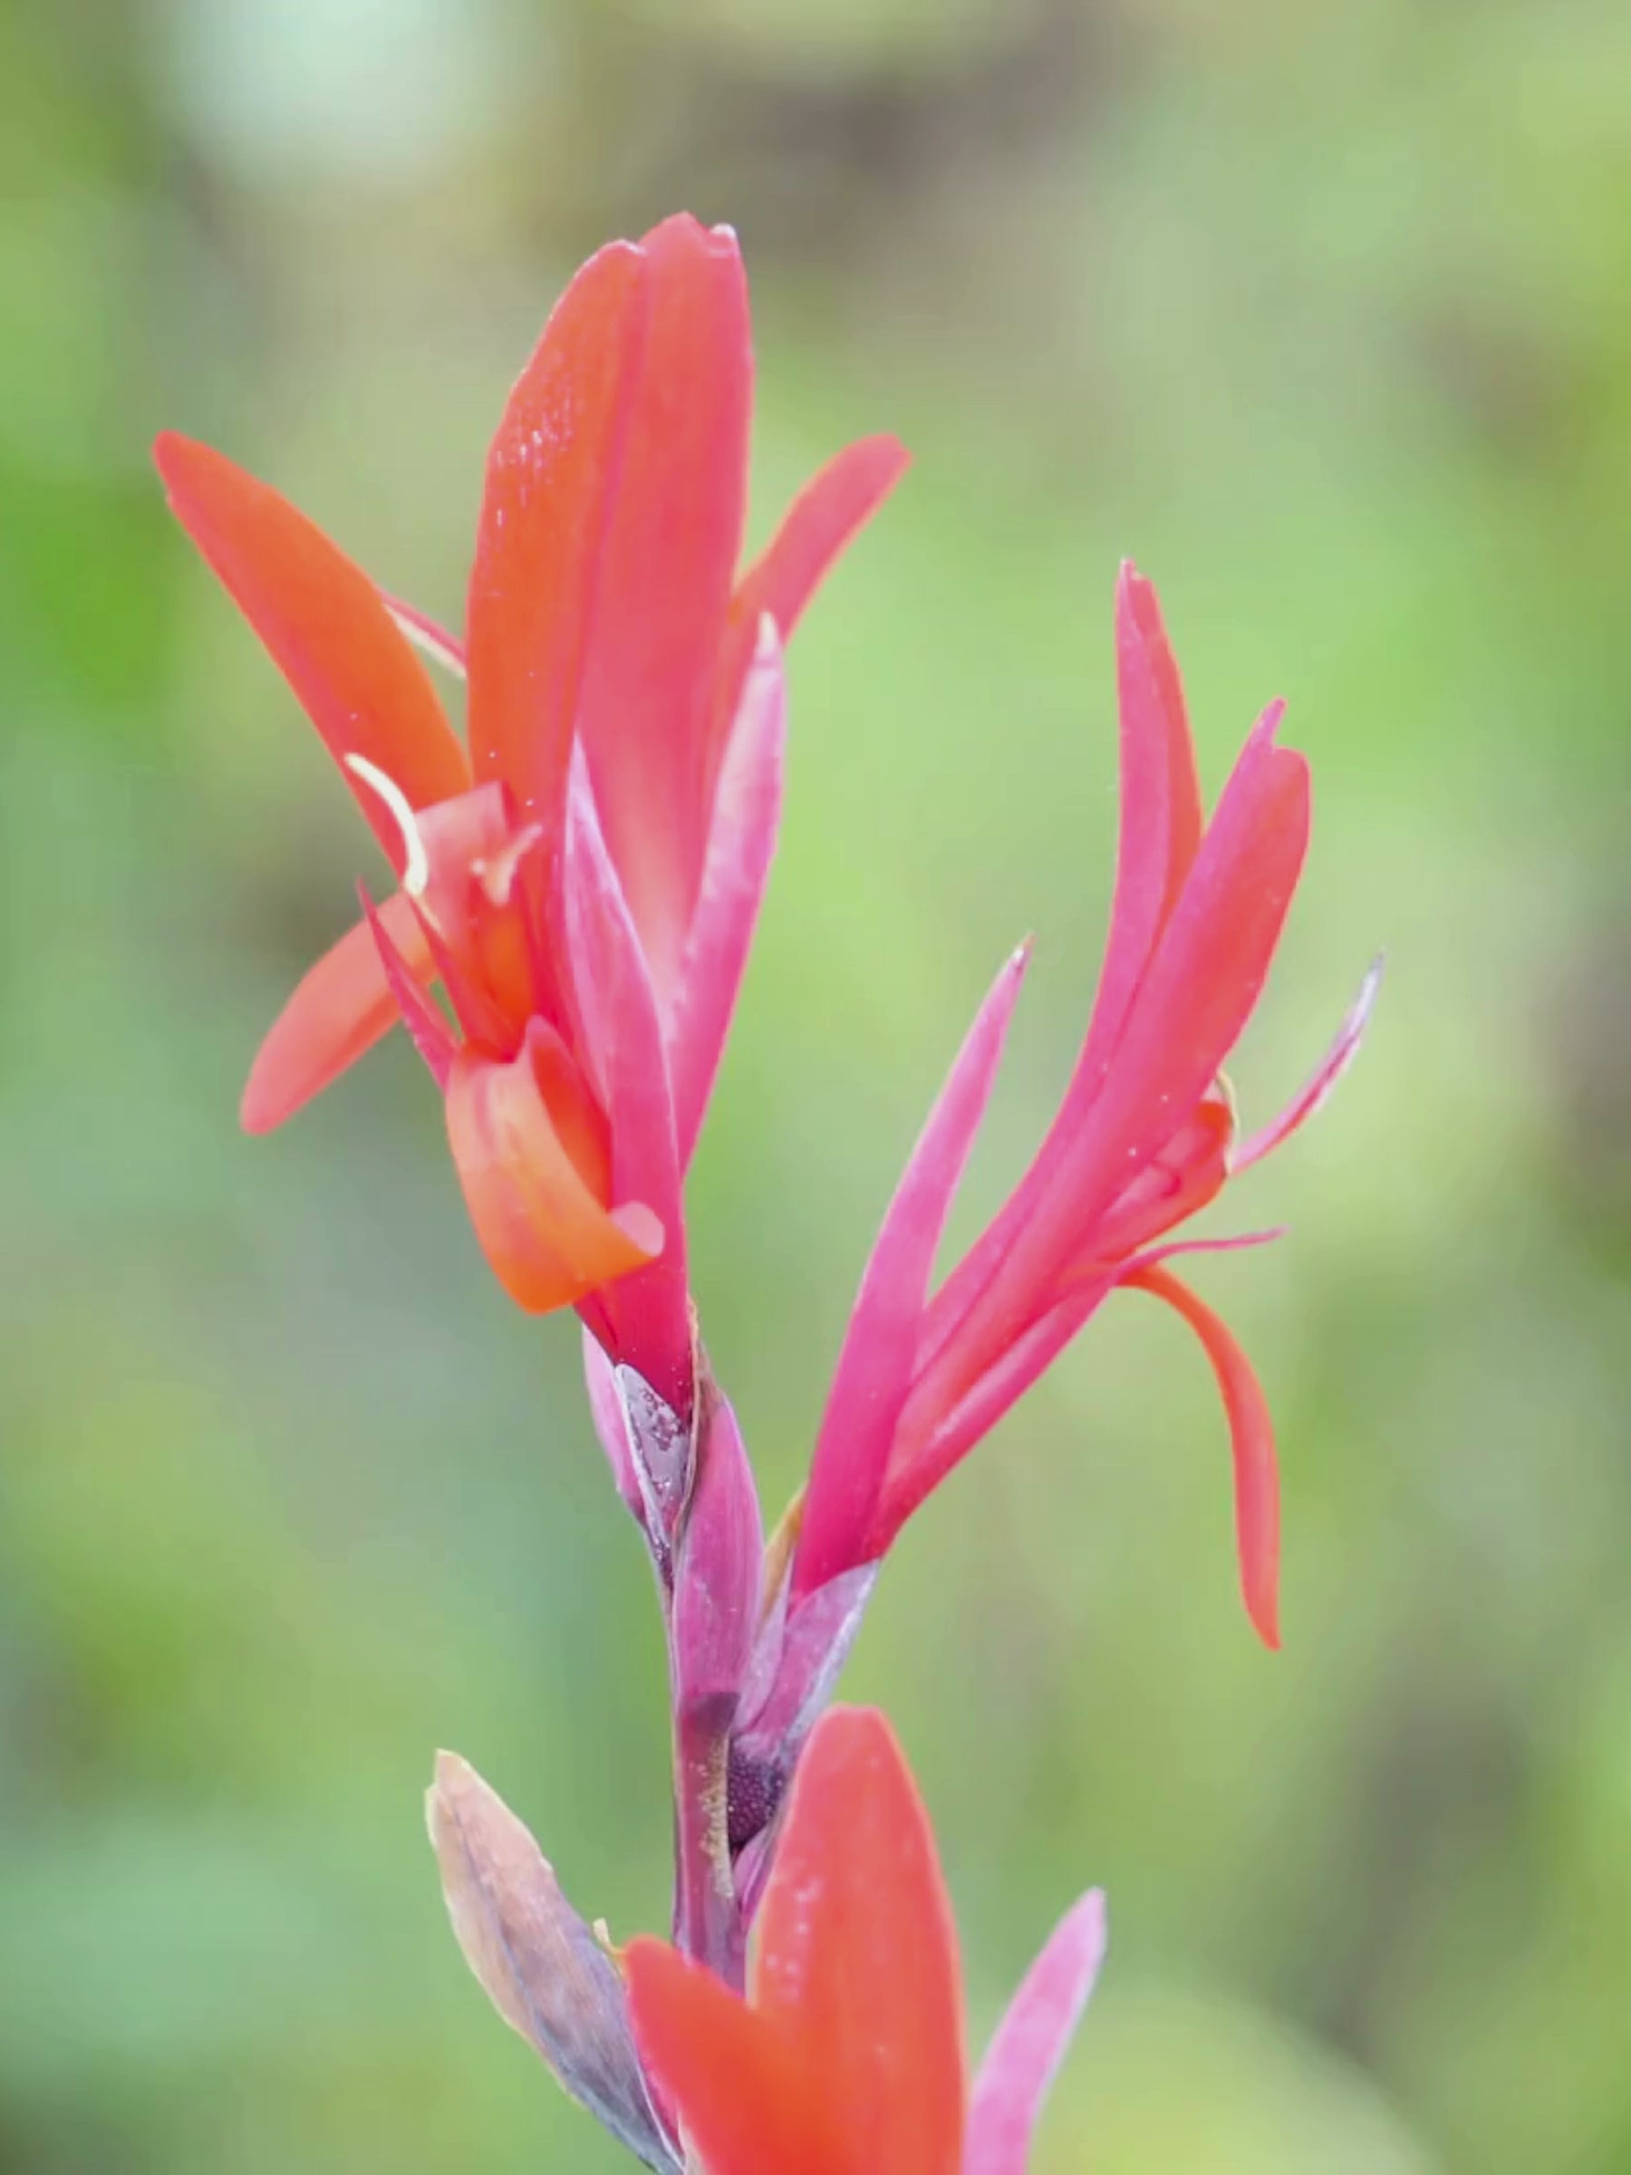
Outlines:
[{"label": "slender pinkish-red canna flower on the right with drooping orange petal", "polygon": [[[1163,1298],[1211,1362],[1233,1438],[1246,1607],[1277,1644],[1279,1488],[1268,1405],[1229,1329],[1163,1264],[1255,1240],[1168,1240],[1327,1098],[1377,990],[1303,1094],[1240,1140],[1222,1064],[1263,987],[1309,837],[1309,774],[1259,718],[1203,820],[1155,589],[1116,594],[1122,807],[1098,998],[1035,1161],[929,1296],[935,1248],[1003,1053],[1026,953],[996,979],[889,1205],[811,1468],[792,1607],[876,1562],[924,1496],[1122,1285]],[[1272,1235],[1272,1233],[1261,1233]]]}]

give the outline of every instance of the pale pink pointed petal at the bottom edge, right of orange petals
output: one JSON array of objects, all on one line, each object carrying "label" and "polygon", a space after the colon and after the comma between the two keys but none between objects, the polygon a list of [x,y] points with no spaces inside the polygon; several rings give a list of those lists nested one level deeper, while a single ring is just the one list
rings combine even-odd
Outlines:
[{"label": "pale pink pointed petal at the bottom edge, right of orange petals", "polygon": [[963,2175],[1024,2175],[1031,2136],[1105,1960],[1105,1897],[1092,1888],[1053,1929],[985,2049],[968,2108]]}]

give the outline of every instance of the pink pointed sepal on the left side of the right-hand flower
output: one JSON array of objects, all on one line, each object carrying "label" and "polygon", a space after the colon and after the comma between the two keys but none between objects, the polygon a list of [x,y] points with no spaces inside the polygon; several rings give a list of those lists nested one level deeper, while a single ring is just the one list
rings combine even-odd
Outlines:
[{"label": "pink pointed sepal on the left side of the right-hand flower", "polygon": [[883,1218],[816,1442],[794,1596],[866,1562],[861,1551],[911,1385],[929,1275],[992,1096],[1026,959],[1029,946],[1020,946],[992,983]]}]

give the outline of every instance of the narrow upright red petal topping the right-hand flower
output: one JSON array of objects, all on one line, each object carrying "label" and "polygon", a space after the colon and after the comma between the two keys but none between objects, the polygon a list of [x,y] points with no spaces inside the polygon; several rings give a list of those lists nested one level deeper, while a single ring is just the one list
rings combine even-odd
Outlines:
[{"label": "narrow upright red petal topping the right-hand flower", "polygon": [[1183,681],[1155,585],[1131,559],[1116,583],[1116,694],[1122,816],[1105,966],[1079,1068],[1090,1081],[1109,1061],[1200,844],[1200,785]]}]

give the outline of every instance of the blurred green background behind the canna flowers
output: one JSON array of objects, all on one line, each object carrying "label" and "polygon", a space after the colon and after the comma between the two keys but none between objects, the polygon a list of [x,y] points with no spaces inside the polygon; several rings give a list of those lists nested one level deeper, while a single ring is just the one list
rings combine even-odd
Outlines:
[{"label": "blurred green background behind the canna flowers", "polygon": [[1113,1947],[1039,2151],[1100,2175],[1631,2168],[1631,11],[1616,0],[154,0],[0,13],[0,2166],[611,2168],[422,1836],[474,1760],[657,1925],[646,1570],[391,1046],[235,1103],[368,850],[170,526],[231,448],[459,616],[578,257],[755,278],[755,526],[916,470],[794,652],[763,942],[692,1190],[774,1507],[916,1124],[1037,964],[961,1229],[1085,1022],[1116,561],[1216,785],[1272,694],[1316,850],[1250,1042],[1372,1044],[1198,1270],[1285,1462],[1124,1298],[918,1520],[848,1692],[933,1807],[976,2038]]}]

